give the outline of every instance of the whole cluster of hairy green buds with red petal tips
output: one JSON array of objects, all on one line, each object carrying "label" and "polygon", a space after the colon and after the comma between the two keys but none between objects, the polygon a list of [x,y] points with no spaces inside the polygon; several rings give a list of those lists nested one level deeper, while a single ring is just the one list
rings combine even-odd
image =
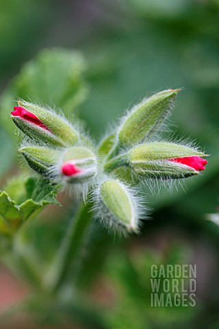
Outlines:
[{"label": "whole cluster of hairy green buds with red petal tips", "polygon": [[207,164],[194,147],[157,141],[178,93],[168,89],[143,99],[98,147],[62,114],[19,99],[12,120],[25,143],[18,151],[36,173],[90,199],[107,228],[138,232],[146,213],[138,183],[188,178]]}]

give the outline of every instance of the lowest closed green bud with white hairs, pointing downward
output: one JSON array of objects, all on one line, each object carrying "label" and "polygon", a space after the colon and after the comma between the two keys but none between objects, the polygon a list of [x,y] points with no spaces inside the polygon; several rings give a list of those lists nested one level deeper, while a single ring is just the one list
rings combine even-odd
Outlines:
[{"label": "lowest closed green bud with white hairs, pointing downward", "polygon": [[[139,205],[139,204],[138,204]],[[131,190],[119,180],[106,179],[96,193],[94,210],[107,228],[138,232],[138,206]]]}]

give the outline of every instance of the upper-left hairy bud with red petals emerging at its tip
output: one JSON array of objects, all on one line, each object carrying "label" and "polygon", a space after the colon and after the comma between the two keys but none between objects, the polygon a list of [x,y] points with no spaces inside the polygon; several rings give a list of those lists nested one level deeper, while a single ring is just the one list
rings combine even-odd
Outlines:
[{"label": "upper-left hairy bud with red petals emerging at its tip", "polygon": [[46,108],[19,100],[11,114],[15,125],[36,141],[66,146],[78,140],[78,133],[70,123]]}]

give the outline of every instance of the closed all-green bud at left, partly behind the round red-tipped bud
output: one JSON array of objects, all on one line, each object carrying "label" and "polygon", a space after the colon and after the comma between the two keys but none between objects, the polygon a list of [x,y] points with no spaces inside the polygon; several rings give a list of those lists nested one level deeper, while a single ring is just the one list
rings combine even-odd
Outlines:
[{"label": "closed all-green bud at left, partly behind the round red-tipped bud", "polygon": [[26,146],[18,151],[24,156],[27,164],[37,173],[49,178],[51,167],[60,157],[60,151],[47,147]]}]

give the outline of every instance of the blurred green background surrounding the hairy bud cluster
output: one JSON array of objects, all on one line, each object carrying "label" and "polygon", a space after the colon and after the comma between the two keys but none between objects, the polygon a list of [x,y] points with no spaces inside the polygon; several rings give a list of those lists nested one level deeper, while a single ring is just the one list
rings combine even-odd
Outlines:
[{"label": "blurred green background surrounding the hairy bud cluster", "polygon": [[[153,211],[139,236],[117,239],[95,224],[71,302],[38,295],[19,308],[37,288],[3,254],[0,307],[10,321],[1,328],[219,328],[219,226],[209,215],[219,203],[218,32],[218,0],[0,1],[1,189],[25,171],[10,122],[17,97],[74,113],[99,142],[142,97],[182,88],[169,134],[210,154],[200,177],[146,192]],[[59,199],[64,208],[45,208],[14,250],[41,274],[73,212],[68,196]],[[155,263],[197,265],[194,308],[150,306]]]}]

